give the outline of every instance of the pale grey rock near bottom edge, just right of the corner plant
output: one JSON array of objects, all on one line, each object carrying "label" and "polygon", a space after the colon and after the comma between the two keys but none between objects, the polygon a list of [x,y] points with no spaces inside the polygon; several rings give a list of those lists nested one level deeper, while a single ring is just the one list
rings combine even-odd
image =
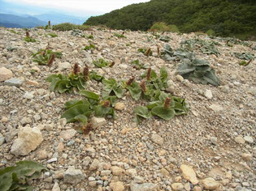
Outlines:
[{"label": "pale grey rock near bottom edge, just right of the corner plant", "polygon": [[67,168],[67,171],[64,173],[63,178],[64,183],[76,185],[80,183],[82,180],[85,180],[85,175],[79,169],[69,167]]}]

